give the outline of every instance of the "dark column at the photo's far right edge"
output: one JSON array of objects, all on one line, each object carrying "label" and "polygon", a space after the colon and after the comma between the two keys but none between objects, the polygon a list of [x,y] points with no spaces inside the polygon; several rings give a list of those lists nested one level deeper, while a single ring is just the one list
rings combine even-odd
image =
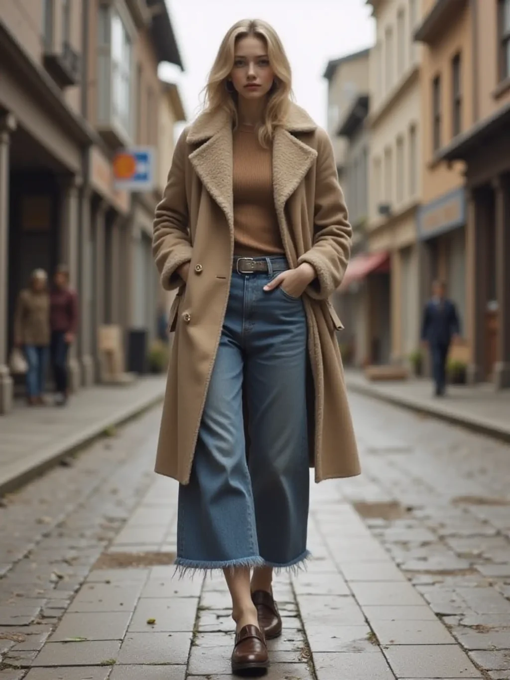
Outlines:
[{"label": "dark column at the photo's far right edge", "polygon": [[496,177],[494,205],[496,220],[496,294],[498,296],[498,361],[494,366],[494,387],[510,387],[510,199],[509,183]]}]

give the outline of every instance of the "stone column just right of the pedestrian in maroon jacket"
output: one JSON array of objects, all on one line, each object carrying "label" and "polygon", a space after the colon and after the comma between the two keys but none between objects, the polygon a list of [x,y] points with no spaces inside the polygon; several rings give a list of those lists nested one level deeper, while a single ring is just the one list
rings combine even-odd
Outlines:
[{"label": "stone column just right of the pedestrian in maroon jacket", "polygon": [[82,364],[82,385],[89,387],[94,382],[94,360],[92,359],[92,235],[90,233],[90,189],[83,188],[80,195],[80,350]]}]

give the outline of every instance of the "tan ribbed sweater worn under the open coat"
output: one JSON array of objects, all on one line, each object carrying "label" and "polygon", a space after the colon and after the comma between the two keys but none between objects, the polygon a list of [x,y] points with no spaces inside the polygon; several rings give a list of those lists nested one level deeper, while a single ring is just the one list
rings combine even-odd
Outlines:
[{"label": "tan ribbed sweater worn under the open coat", "polygon": [[273,197],[272,151],[258,133],[239,125],[233,139],[234,253],[284,254]]}]

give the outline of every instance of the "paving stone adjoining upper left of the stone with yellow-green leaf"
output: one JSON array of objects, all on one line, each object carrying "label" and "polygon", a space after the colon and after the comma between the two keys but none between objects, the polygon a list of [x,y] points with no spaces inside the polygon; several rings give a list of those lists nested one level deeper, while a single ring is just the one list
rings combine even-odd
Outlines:
[{"label": "paving stone adjoining upper left of the stone with yellow-green leaf", "polygon": [[86,583],[74,598],[69,612],[133,611],[142,583]]}]

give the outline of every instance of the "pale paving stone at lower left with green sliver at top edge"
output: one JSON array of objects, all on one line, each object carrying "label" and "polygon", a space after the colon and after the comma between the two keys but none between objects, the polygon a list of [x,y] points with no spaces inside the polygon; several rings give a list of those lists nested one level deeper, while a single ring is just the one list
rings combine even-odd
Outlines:
[{"label": "pale paving stone at lower left with green sliver at top edge", "polygon": [[49,642],[39,652],[33,666],[95,666],[108,659],[116,659],[120,642]]}]

